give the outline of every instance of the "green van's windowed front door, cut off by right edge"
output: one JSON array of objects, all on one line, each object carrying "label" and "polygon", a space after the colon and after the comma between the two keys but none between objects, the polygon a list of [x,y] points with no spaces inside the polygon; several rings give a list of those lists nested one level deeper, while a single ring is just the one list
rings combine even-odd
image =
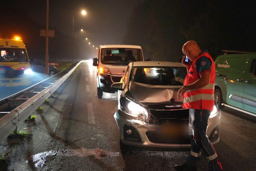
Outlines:
[{"label": "green van's windowed front door, cut off by right edge", "polygon": [[246,72],[244,80],[244,109],[256,113],[256,57],[247,59]]}]

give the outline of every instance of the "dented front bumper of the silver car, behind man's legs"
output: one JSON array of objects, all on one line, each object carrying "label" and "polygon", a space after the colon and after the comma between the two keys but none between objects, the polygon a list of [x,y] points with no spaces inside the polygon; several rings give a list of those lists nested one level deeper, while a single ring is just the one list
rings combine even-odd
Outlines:
[{"label": "dented front bumper of the silver car, behind man's legs", "polygon": [[[170,138],[166,140],[166,137],[161,140],[159,130],[161,130],[162,125],[146,123],[121,110],[115,112],[114,118],[118,125],[120,139],[126,145],[150,148],[190,148],[190,139],[188,137],[178,141]],[[219,111],[213,117],[210,117],[208,121],[207,136],[210,140],[216,129],[218,131],[217,137],[212,138],[212,144],[219,141],[220,118],[221,113]]]}]

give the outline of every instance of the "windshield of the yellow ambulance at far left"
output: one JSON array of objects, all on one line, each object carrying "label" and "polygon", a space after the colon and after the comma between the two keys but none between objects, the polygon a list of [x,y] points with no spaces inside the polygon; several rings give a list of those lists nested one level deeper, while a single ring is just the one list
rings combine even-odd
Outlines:
[{"label": "windshield of the yellow ambulance at far left", "polygon": [[0,48],[0,62],[28,62],[25,49],[19,48]]}]

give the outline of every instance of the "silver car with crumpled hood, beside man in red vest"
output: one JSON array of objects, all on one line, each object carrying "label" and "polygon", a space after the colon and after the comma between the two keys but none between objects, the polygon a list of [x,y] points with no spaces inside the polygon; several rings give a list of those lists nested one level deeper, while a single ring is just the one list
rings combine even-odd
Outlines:
[{"label": "silver car with crumpled hood, beside man in red vest", "polygon": [[[187,70],[180,63],[131,62],[118,89],[114,114],[120,145],[153,148],[189,148],[189,109],[177,98]],[[212,144],[219,141],[221,112],[214,107],[207,127]]]}]

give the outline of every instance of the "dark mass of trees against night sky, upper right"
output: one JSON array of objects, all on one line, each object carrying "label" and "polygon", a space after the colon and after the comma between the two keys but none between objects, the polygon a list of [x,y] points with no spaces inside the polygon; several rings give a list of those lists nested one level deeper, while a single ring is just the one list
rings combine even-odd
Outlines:
[{"label": "dark mass of trees against night sky, upper right", "polygon": [[214,59],[223,49],[256,52],[255,9],[254,0],[145,0],[134,9],[123,43],[141,45],[159,61],[178,61],[188,40]]}]

